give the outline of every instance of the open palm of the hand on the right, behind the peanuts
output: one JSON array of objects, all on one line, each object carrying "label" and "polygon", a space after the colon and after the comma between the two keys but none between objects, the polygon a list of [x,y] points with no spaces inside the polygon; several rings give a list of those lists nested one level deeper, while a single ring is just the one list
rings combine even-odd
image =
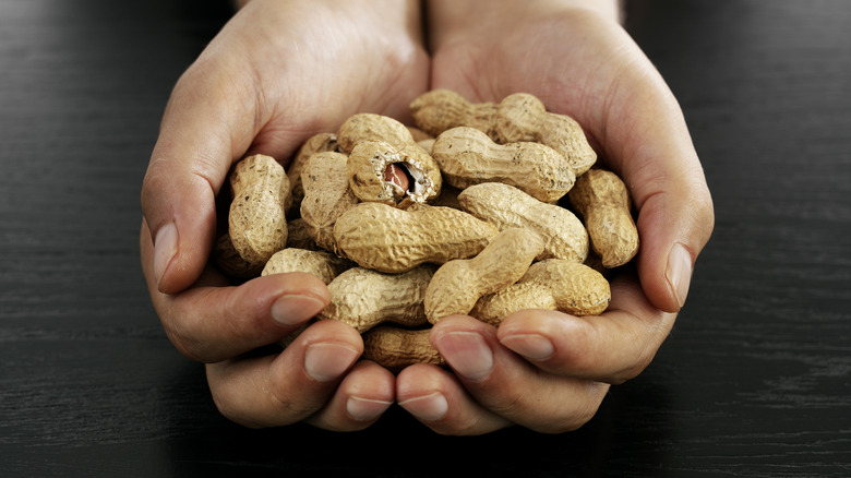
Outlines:
[{"label": "open palm of the hand on the right, behind the peanuts", "polygon": [[[608,144],[613,115],[625,95],[618,95],[624,64],[625,35],[618,25],[563,13],[541,16],[494,34],[499,25],[474,31],[435,52],[433,87],[455,89],[470,100],[499,100],[516,92],[531,93],[548,109],[566,113],[585,129],[598,153]],[[627,65],[628,67],[628,65]],[[614,100],[616,98],[616,100]]]}]

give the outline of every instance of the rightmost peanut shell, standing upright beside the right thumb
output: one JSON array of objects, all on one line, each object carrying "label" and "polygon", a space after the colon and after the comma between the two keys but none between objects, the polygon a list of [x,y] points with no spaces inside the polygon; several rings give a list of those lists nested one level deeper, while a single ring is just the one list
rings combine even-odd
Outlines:
[{"label": "rightmost peanut shell, standing upright beside the right thumb", "polygon": [[583,216],[591,248],[604,267],[618,267],[635,256],[638,228],[630,211],[630,192],[618,175],[591,169],[576,181],[568,198]]}]

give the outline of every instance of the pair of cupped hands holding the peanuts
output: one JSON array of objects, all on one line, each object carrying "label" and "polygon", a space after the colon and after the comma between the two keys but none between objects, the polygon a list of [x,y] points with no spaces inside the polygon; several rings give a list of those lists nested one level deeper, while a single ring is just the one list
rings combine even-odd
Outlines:
[{"label": "pair of cupped hands holding the peanuts", "polygon": [[[233,421],[358,430],[397,403],[445,434],[575,429],[610,384],[644,370],[685,301],[714,227],[711,199],[676,100],[615,3],[425,7],[253,0],[172,92],[142,188],[142,266],[169,338],[206,363],[215,403]],[[311,319],[328,292],[307,274],[230,286],[208,266],[230,166],[253,153],[289,158],[356,112],[407,121],[409,103],[438,87],[474,101],[532,93],[575,118],[625,180],[643,242],[635,267],[612,280],[609,309],[522,311],[499,328],[446,318],[431,340],[454,373],[418,365],[394,377],[359,361],[359,334],[336,321],[311,325],[281,352],[252,352]]]}]

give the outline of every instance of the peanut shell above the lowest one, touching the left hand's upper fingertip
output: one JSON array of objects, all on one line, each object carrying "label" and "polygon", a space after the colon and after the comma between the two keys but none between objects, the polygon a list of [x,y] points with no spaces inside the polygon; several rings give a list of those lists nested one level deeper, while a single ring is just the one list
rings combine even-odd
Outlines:
[{"label": "peanut shell above the lowest one, touching the left hand's upper fingertip", "polygon": [[319,318],[347,323],[360,333],[385,322],[422,325],[423,298],[434,268],[424,264],[401,274],[349,268],[328,284],[331,302]]}]

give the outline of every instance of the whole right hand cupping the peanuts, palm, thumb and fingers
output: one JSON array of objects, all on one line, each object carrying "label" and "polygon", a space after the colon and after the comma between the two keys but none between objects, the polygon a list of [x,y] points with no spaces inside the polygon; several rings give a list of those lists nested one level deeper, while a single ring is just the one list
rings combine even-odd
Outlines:
[{"label": "whole right hand cupping the peanuts, palm, thumb and fingers", "polygon": [[679,105],[615,7],[430,3],[431,87],[478,101],[528,92],[576,119],[598,160],[630,188],[642,238],[600,316],[522,311],[499,330],[468,316],[438,323],[431,342],[455,374],[415,366],[396,381],[399,404],[438,432],[584,425],[610,384],[650,362],[685,301],[714,227],[711,199]]}]

